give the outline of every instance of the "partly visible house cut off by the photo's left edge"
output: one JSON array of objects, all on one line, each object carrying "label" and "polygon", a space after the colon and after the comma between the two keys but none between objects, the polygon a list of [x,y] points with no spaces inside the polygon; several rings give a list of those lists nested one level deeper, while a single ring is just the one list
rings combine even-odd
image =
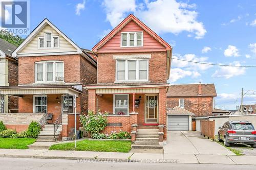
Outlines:
[{"label": "partly visible house cut off by the photo's left edge", "polygon": [[[0,38],[0,86],[18,85],[18,59],[11,55],[15,48],[15,45]],[[0,113],[17,112],[17,110],[17,98],[0,94]]]}]

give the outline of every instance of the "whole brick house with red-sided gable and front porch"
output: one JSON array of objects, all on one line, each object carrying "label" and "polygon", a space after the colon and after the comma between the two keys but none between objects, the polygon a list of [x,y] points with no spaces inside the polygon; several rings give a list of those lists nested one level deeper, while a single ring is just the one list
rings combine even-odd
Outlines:
[{"label": "whole brick house with red-sided gable and front porch", "polygon": [[90,110],[110,112],[103,133],[131,132],[137,146],[145,142],[137,138],[143,137],[142,131],[147,128],[146,132],[157,135],[157,141],[153,139],[150,144],[166,140],[172,47],[131,14],[92,51],[98,55],[97,83],[85,88]]}]

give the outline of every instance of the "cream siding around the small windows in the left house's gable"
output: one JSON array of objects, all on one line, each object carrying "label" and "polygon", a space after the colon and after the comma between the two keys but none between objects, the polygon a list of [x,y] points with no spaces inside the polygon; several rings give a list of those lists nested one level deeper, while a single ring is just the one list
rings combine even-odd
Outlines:
[{"label": "cream siding around the small windows in the left house's gable", "polygon": [[[40,47],[39,38],[44,38],[45,33],[52,33],[53,37],[58,37],[58,47],[46,47],[46,42],[44,47]],[[46,41],[46,39],[44,39]],[[28,44],[24,47],[22,51],[18,54],[37,54],[37,53],[54,53],[54,52],[74,52],[77,49],[69,43],[65,38],[63,38],[58,32],[56,32],[51,26],[47,25],[42,29]]]}]

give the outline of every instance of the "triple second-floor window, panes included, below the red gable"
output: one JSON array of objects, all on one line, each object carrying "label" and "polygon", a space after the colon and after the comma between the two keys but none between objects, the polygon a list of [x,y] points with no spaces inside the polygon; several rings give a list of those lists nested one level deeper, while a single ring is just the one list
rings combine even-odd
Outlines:
[{"label": "triple second-floor window, panes included, below the red gable", "polygon": [[116,60],[116,81],[148,81],[148,59]]}]

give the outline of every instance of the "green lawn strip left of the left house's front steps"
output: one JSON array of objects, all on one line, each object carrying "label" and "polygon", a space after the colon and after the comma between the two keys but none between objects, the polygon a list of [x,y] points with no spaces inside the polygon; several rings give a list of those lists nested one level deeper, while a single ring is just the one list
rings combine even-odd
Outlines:
[{"label": "green lawn strip left of the left house's front steps", "polygon": [[35,142],[30,138],[0,138],[1,149],[28,149],[28,145]]}]

